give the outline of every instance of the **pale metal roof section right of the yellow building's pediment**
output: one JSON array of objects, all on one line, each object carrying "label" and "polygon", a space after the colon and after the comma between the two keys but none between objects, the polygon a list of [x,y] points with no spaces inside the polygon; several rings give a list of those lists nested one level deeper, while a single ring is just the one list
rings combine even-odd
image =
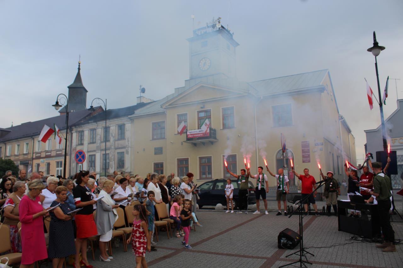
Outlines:
[{"label": "pale metal roof section right of the yellow building's pediment", "polygon": [[249,85],[258,91],[258,95],[269,95],[275,93],[285,93],[300,89],[308,89],[322,85],[322,81],[328,69],[302,74],[281,76],[266,80],[249,82]]}]

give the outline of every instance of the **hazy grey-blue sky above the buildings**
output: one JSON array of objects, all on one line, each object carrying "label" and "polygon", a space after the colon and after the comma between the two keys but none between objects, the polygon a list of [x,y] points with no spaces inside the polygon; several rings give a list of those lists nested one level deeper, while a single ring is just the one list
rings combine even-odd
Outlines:
[{"label": "hazy grey-blue sky above the buildings", "polygon": [[[51,105],[67,95],[79,55],[87,106],[95,97],[108,99],[108,108],[133,105],[139,85],[155,100],[173,93],[189,79],[193,27],[220,16],[240,44],[241,81],[329,69],[363,159],[364,130],[380,124],[378,105],[370,111],[366,98],[364,77],[377,93],[375,58],[366,49],[376,31],[386,47],[378,56],[381,91],[387,76],[400,78],[402,99],[402,11],[399,0],[0,0],[0,128],[58,115]],[[385,118],[396,99],[390,80]]]}]

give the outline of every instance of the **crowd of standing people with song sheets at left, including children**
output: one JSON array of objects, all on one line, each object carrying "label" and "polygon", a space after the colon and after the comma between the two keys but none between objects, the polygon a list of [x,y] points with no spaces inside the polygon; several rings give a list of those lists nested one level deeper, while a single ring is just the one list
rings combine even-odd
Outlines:
[{"label": "crowd of standing people with song sheets at left, including children", "polygon": [[[96,174],[89,171],[80,171],[70,179],[44,177],[37,172],[27,177],[21,171],[18,178],[6,173],[0,189],[2,222],[10,226],[11,253],[22,252],[22,268],[47,258],[52,259],[54,268],[61,268],[69,256],[74,256],[73,267],[91,268],[87,240],[95,236],[99,239],[99,260],[112,261],[107,248],[120,209],[125,215],[122,227],[133,225],[123,243],[131,243],[137,265],[143,267],[145,252],[157,250],[153,239],[154,222],[160,219],[156,204],[165,204],[175,236],[182,239],[186,249],[192,248],[191,226],[202,226],[196,216],[197,190],[192,173],[181,179],[174,173],[148,173],[143,179],[115,171],[96,180]],[[126,206],[133,206],[134,222],[127,221]]]}]

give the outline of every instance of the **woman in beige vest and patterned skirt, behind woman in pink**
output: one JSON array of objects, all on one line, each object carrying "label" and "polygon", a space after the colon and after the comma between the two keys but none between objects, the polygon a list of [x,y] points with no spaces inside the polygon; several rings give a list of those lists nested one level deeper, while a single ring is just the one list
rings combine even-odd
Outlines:
[{"label": "woman in beige vest and patterned skirt, behind woman in pink", "polygon": [[19,204],[25,193],[25,182],[16,181],[13,192],[4,204],[4,224],[10,226],[11,253],[21,252],[21,241],[18,235]]}]

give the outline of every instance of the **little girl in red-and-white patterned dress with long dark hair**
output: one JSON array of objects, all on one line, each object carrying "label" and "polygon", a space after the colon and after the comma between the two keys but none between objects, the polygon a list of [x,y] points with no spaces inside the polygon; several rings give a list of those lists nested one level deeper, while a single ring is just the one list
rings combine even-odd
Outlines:
[{"label": "little girl in red-and-white patterned dress with long dark hair", "polygon": [[[151,250],[151,240],[148,237],[148,227],[147,227],[147,215],[145,212],[145,207],[141,205],[135,205],[133,207],[133,231],[127,239],[127,243],[131,243],[133,252],[136,255],[136,268],[147,268],[147,262],[145,261],[145,250],[148,252]],[[132,240],[133,237],[133,240]]]}]

